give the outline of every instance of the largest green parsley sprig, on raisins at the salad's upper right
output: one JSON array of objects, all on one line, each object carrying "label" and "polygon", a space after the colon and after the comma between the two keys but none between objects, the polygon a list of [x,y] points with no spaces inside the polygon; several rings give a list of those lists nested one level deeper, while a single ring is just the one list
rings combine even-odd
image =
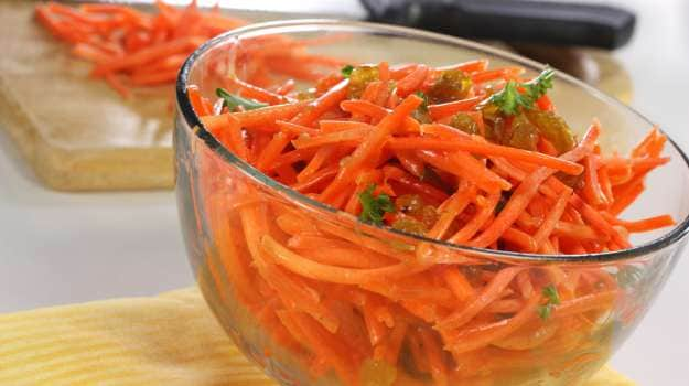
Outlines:
[{"label": "largest green parsley sprig, on raisins at the salad's upper right", "polygon": [[[493,94],[487,101],[497,106],[506,115],[517,115],[523,108],[534,108],[536,100],[546,95],[548,89],[552,88],[553,77],[555,71],[546,68],[529,82],[517,83],[509,81],[502,90]],[[524,93],[520,93],[520,89]]]}]

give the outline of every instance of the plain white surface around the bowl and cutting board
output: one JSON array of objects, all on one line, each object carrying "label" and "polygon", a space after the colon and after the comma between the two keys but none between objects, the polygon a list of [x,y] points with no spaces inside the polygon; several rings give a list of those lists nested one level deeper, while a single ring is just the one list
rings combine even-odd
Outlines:
[{"label": "plain white surface around the bowl and cutting board", "polygon": [[[633,76],[633,105],[689,150],[689,1],[624,3],[639,15],[634,41],[616,53]],[[317,6],[344,9],[342,2]],[[689,385],[689,251],[685,255],[613,358],[644,386]],[[0,312],[190,285],[172,192],[49,191],[0,130]]]}]

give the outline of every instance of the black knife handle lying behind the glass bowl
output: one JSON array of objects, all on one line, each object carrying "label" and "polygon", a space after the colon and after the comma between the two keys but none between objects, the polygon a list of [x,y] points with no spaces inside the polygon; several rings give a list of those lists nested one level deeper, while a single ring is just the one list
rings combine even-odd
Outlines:
[{"label": "black knife handle lying behind the glass bowl", "polygon": [[634,13],[616,7],[515,0],[362,0],[374,21],[469,39],[617,49]]}]

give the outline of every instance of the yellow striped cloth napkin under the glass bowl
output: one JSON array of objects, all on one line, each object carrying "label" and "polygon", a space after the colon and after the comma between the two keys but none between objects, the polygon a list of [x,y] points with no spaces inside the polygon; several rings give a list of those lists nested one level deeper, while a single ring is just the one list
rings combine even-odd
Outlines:
[{"label": "yellow striped cloth napkin under the glass bowl", "polygon": [[[196,288],[0,315],[0,385],[276,386]],[[586,386],[631,386],[603,368]]]}]

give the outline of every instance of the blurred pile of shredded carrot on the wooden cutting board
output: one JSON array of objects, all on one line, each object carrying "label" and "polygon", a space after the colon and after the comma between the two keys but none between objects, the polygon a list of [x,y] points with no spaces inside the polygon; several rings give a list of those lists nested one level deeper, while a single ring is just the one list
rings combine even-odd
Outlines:
[{"label": "blurred pile of shredded carrot on the wooden cutting board", "polygon": [[[35,18],[53,36],[72,46],[72,55],[93,63],[91,75],[105,79],[125,99],[132,97],[133,87],[173,85],[186,57],[202,43],[247,24],[222,13],[217,7],[202,9],[196,1],[175,8],[157,0],[155,9],[157,12],[149,13],[116,3],[71,7],[49,1],[35,7]],[[294,75],[295,69],[289,63],[300,63],[299,71],[309,79],[321,76],[312,67],[332,69],[341,65],[336,60],[300,53],[302,44],[288,39],[262,43],[265,65],[276,67],[279,75]],[[270,44],[279,45],[271,49]],[[305,62],[309,64],[304,65]],[[282,69],[277,68],[280,65]],[[248,97],[270,103],[289,100],[277,90],[257,95],[260,88],[246,86]]]}]

